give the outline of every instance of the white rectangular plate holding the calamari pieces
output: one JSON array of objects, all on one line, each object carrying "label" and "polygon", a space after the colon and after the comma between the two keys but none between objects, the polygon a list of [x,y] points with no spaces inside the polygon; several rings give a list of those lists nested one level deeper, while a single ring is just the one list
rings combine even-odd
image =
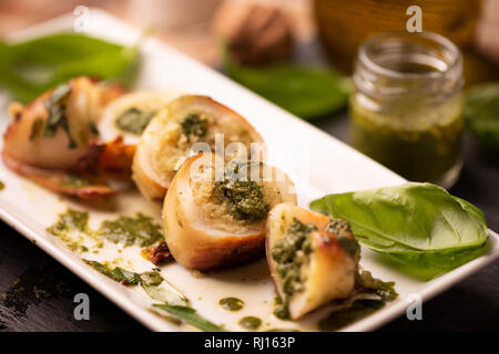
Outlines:
[{"label": "white rectangular plate holding the calamari pieces", "polygon": [[[71,30],[73,21],[73,15],[65,15],[23,31],[13,39]],[[141,37],[135,29],[98,9],[90,11],[89,34],[123,44],[134,44]],[[268,143],[271,160],[286,170],[295,180],[299,204],[304,207],[307,207],[310,200],[326,194],[398,185],[405,181],[326,133],[156,40],[145,40],[142,52],[144,61],[138,88],[176,88],[187,93],[205,94],[242,114]],[[2,103],[1,131],[3,132],[10,118],[7,116],[8,98],[0,96],[0,100]],[[7,186],[0,192],[0,217],[10,226],[149,329],[154,331],[193,330],[186,325],[176,326],[153,314],[149,310],[151,300],[145,296],[142,289],[120,285],[81,261],[81,258],[111,259],[116,266],[129,270],[140,272],[152,269],[153,266],[140,256],[138,248],[123,248],[119,253],[119,246],[106,244],[99,254],[91,252],[78,254],[71,252],[64,243],[45,231],[45,228],[55,221],[58,214],[63,212],[68,206],[89,210],[91,226],[96,227],[103,218],[114,218],[123,214],[133,215],[136,211],[152,216],[160,222],[160,205],[145,201],[136,191],[130,191],[112,200],[110,209],[92,208],[44,190],[11,173],[3,164],[0,164],[0,179]],[[345,330],[374,330],[404,313],[410,294],[417,293],[424,300],[428,300],[485,267],[499,256],[497,238],[498,236],[490,231],[487,254],[427,282],[409,278],[397,271],[393,264],[381,261],[375,253],[363,250],[363,267],[370,270],[377,278],[395,281],[399,298]],[[179,264],[167,264],[162,268],[162,274],[191,300],[192,306],[201,315],[223,324],[227,330],[242,331],[237,322],[246,315],[263,319],[261,327],[263,331],[276,327],[316,330],[320,311],[299,322],[283,322],[272,315],[274,288],[265,260],[201,278]],[[240,298],[246,305],[238,312],[225,311],[217,304],[218,300],[225,296]]]}]

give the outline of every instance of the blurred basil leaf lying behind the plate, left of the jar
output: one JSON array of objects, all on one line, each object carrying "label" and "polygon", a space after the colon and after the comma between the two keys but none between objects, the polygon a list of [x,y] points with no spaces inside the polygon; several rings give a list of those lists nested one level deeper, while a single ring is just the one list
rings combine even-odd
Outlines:
[{"label": "blurred basil leaf lying behind the plate, left of the jar", "polygon": [[325,116],[347,103],[345,82],[326,67],[295,64],[243,66],[226,54],[225,69],[228,76],[242,85],[304,119]]}]

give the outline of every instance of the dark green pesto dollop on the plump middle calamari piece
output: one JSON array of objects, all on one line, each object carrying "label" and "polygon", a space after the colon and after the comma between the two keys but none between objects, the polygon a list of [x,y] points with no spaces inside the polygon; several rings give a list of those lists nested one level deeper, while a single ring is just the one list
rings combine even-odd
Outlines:
[{"label": "dark green pesto dollop on the plump middle calamari piece", "polygon": [[258,221],[267,217],[271,209],[262,187],[254,180],[238,180],[238,165],[225,168],[224,179],[215,188],[228,200],[228,214],[243,221]]}]

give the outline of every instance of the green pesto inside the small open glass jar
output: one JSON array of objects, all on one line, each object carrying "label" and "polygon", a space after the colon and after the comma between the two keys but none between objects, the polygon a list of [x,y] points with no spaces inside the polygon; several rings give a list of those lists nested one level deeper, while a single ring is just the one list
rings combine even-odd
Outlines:
[{"label": "green pesto inside the small open glass jar", "polygon": [[[352,145],[409,180],[438,184],[460,159],[464,119],[455,101],[438,111],[428,104],[418,107],[399,102],[400,106],[387,107],[380,115],[352,100]],[[424,125],[413,119],[410,126],[389,123],[417,112],[421,117],[439,114],[439,122]]]}]

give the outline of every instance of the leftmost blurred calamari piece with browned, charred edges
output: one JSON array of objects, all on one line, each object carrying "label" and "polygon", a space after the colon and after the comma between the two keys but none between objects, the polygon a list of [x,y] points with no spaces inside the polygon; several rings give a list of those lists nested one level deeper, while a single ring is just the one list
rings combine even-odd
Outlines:
[{"label": "leftmost blurred calamari piece with browned, charred edges", "polygon": [[13,119],[3,135],[3,163],[60,194],[80,198],[113,194],[101,185],[101,173],[130,177],[134,147],[120,138],[99,143],[95,125],[105,105],[123,93],[118,85],[81,76],[27,106],[11,104]]}]

